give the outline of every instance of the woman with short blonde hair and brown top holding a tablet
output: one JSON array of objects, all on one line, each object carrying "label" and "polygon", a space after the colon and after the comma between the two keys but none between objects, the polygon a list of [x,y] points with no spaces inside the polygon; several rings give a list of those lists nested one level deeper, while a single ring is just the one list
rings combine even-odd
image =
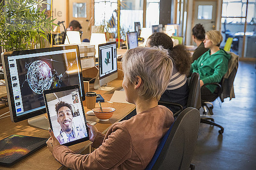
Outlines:
[{"label": "woman with short blonde hair and brown top holding a tablet", "polygon": [[64,166],[76,170],[143,170],[174,122],[172,112],[157,105],[172,76],[168,51],[161,47],[130,49],[122,58],[122,67],[126,100],[136,105],[137,115],[114,123],[106,135],[87,124],[89,140],[97,148],[87,155],[60,145],[49,130],[47,147]]}]

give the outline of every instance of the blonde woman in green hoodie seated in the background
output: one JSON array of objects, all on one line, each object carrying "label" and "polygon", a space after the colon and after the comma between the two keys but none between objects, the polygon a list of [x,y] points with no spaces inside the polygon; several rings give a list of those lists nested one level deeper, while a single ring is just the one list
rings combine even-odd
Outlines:
[{"label": "blonde woman in green hoodie seated in the background", "polygon": [[[222,77],[227,72],[230,54],[220,48],[222,40],[220,31],[208,31],[205,35],[204,47],[209,48],[209,50],[191,65],[190,71],[200,75],[201,87],[207,83],[221,82]],[[214,93],[215,89],[215,85],[207,85],[201,89],[201,94]]]}]

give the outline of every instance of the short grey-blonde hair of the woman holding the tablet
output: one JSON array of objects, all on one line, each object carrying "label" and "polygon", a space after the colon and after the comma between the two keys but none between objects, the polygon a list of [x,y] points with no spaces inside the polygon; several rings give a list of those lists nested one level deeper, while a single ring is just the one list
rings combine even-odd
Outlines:
[{"label": "short grey-blonde hair of the woman holding the tablet", "polygon": [[172,77],[173,63],[163,47],[137,47],[122,57],[122,68],[129,83],[142,79],[139,96],[146,101],[160,99]]}]

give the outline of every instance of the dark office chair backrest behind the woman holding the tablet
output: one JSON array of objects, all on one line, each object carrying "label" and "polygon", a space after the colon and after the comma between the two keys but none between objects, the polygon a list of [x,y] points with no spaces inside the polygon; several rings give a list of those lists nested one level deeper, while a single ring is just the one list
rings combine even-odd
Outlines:
[{"label": "dark office chair backrest behind the woman holding the tablet", "polygon": [[200,125],[199,111],[184,109],[162,138],[145,170],[189,169]]}]

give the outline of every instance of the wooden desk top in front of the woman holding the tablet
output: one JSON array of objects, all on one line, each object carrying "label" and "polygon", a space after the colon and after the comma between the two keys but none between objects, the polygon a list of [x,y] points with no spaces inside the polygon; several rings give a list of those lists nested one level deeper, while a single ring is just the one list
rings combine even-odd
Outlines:
[{"label": "wooden desk top in front of the woman holding the tablet", "polygon": [[[109,83],[112,87],[121,88],[122,80],[116,79]],[[110,100],[112,96],[112,92],[105,92],[105,91],[96,91],[98,94],[101,94],[105,100]],[[115,122],[119,122],[125,116],[127,116],[131,111],[135,109],[135,105],[133,104],[125,104],[125,103],[108,103],[103,102],[102,106],[109,106],[116,108],[115,113],[107,122],[99,122],[99,119],[96,116],[86,116],[86,119],[90,121],[97,122],[95,125],[97,129],[102,132],[106,133],[108,128]],[[5,113],[9,111],[9,108],[4,108],[0,110],[1,113]],[[86,113],[88,109],[84,107],[84,112]],[[43,138],[49,138],[49,133],[47,130],[42,130],[36,127],[29,126],[27,121],[21,121],[18,123],[12,123],[10,117],[0,119],[0,124],[2,125],[2,129],[0,132],[0,140],[4,139],[12,134],[20,134],[26,136],[37,136]],[[86,141],[80,144],[75,144],[70,146],[69,148],[76,153],[88,153],[87,149],[90,146],[91,142]],[[0,166],[0,170],[56,170],[65,168],[60,164],[56,159],[52,156],[50,151],[47,147],[43,147],[41,150],[33,153],[32,155],[22,159],[21,161],[17,162],[12,167],[3,167]]]}]

